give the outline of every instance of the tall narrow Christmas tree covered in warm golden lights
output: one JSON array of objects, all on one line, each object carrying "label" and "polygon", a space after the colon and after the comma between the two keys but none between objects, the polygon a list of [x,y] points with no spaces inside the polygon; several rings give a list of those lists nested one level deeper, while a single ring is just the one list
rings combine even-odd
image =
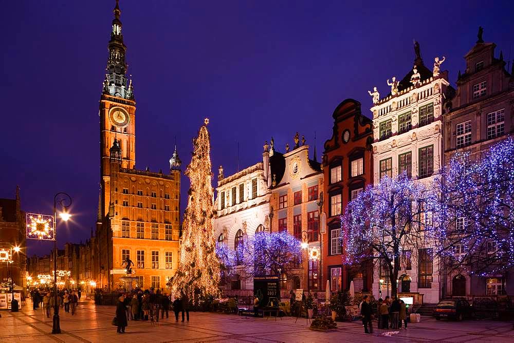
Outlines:
[{"label": "tall narrow Christmas tree covered in warm golden lights", "polygon": [[206,119],[198,137],[193,139],[193,157],[185,172],[191,187],[182,222],[180,265],[172,281],[175,295],[184,293],[195,304],[219,292],[219,260],[212,231],[214,207],[208,123]]}]

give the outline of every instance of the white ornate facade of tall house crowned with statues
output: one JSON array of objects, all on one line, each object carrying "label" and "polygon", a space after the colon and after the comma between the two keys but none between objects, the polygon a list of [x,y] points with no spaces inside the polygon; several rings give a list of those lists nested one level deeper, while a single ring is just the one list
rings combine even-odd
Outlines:
[{"label": "white ornate facade of tall house crowned with statues", "polygon": [[[439,168],[444,164],[442,105],[444,102],[443,94],[448,85],[447,72],[443,72],[438,77],[427,78],[416,86],[401,90],[395,96],[382,99],[371,107],[375,138],[375,142],[372,144],[374,183],[380,181],[380,176],[384,171],[393,178],[397,176],[400,172],[400,156],[402,156],[402,161],[406,161],[409,154],[412,179],[423,182],[425,185],[429,185],[433,181],[433,178],[439,172]],[[423,112],[426,113],[427,108],[433,108],[433,120],[428,120],[423,126],[420,126],[420,112],[423,109]],[[409,113],[411,127],[406,125],[405,120],[402,120]],[[402,126],[406,127],[401,131],[400,120],[402,120]],[[384,130],[382,129],[382,132],[380,130],[381,124],[382,127],[387,127],[388,121],[391,123],[391,134],[383,135]],[[425,173],[429,175],[420,175],[421,149],[424,149],[424,153],[426,153],[427,147],[433,149],[433,170],[431,173]],[[390,164],[388,164],[388,160]],[[406,162],[403,162],[402,165],[405,166]],[[429,248],[430,246],[430,243],[425,243],[425,247]],[[412,268],[406,270],[406,267],[402,265],[398,276],[408,275],[411,278],[410,292],[424,294],[423,301],[425,303],[437,303],[440,296],[439,261],[434,256],[431,287],[419,288],[417,257],[418,251],[413,247]],[[378,274],[378,268],[374,268],[373,294],[376,298],[379,297],[380,288]],[[398,292],[402,292],[401,281],[398,282],[398,285]],[[382,284],[382,297],[385,295],[387,295],[387,284]]]}]

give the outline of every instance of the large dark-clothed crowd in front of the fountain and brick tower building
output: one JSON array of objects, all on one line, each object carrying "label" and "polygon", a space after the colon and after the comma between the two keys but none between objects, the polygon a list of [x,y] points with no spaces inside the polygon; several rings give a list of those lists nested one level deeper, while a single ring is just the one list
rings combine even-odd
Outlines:
[{"label": "large dark-clothed crowd in front of the fountain and brick tower building", "polygon": [[[161,319],[169,318],[168,311],[170,310],[171,299],[168,293],[161,293],[160,290],[142,291],[140,289],[132,292],[125,292],[118,298],[116,304],[116,326],[118,333],[124,333],[125,328],[128,326],[128,320],[151,320],[152,322],[159,321],[159,314]],[[187,295],[182,294],[180,298],[175,298],[173,301],[173,311],[175,312],[175,320],[178,321],[178,314],[182,312],[182,321],[187,314],[189,321],[189,298]]]}]

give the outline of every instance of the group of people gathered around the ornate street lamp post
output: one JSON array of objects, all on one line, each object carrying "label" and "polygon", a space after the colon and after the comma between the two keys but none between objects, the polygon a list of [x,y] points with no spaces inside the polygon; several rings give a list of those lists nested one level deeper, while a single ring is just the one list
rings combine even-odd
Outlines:
[{"label": "group of people gathered around the ornate street lamp post", "polygon": [[[82,292],[80,290],[58,290],[58,309],[59,307],[64,307],[64,312],[71,312],[71,315],[75,315],[81,295]],[[30,298],[32,299],[32,309],[36,310],[41,306],[45,311],[46,317],[50,318],[51,309],[56,306],[56,297],[53,291],[49,289],[35,289],[30,291]]]}]

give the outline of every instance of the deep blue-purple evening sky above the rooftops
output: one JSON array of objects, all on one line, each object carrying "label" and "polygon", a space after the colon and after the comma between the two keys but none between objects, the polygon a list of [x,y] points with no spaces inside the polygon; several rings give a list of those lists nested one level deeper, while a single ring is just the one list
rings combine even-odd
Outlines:
[{"label": "deep blue-purple evening sky above the rooftops", "polygon": [[[99,182],[98,101],[114,0],[4,2],[0,12],[0,197],[21,186],[22,207],[51,212],[53,194],[74,199],[75,222],[59,245],[89,237]],[[464,54],[484,39],[514,58],[511,2],[136,1],[121,21],[137,102],[136,166],[167,170],[174,137],[184,167],[191,138],[210,118],[213,173],[260,160],[274,136],[296,131],[318,157],[332,112],[346,98],[412,67],[413,39],[425,64],[445,55],[454,83]],[[509,52],[510,51],[510,52]],[[312,150],[311,150],[312,153]],[[189,180],[182,178],[182,210]],[[29,254],[47,253],[33,242]]]}]

